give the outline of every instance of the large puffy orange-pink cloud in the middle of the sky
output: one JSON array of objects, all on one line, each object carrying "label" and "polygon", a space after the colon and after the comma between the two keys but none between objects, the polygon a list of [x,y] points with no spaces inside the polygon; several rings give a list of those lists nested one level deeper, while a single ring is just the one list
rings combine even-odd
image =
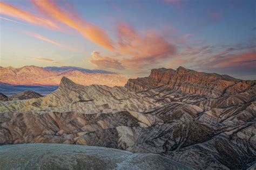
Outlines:
[{"label": "large puffy orange-pink cloud in the middle of the sky", "polygon": [[133,27],[124,23],[118,26],[118,39],[118,52],[131,56],[122,63],[131,68],[151,65],[176,53],[176,47],[156,32],[145,31],[140,36]]}]

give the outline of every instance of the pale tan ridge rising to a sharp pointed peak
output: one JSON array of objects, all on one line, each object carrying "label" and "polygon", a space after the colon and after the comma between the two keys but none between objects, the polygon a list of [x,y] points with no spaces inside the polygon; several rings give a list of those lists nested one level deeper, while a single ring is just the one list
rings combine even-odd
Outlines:
[{"label": "pale tan ridge rising to a sharp pointed peak", "polygon": [[125,87],[82,86],[66,77],[53,93],[26,101],[0,103],[0,112],[7,111],[78,111],[86,114],[118,111],[146,111],[160,106],[151,97],[127,93]]}]

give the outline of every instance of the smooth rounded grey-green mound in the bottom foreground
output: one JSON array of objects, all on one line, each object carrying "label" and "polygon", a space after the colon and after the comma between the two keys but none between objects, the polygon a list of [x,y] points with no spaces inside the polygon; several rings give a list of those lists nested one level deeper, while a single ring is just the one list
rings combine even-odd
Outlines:
[{"label": "smooth rounded grey-green mound in the bottom foreground", "polygon": [[191,169],[157,154],[112,148],[22,144],[0,146],[0,169]]}]

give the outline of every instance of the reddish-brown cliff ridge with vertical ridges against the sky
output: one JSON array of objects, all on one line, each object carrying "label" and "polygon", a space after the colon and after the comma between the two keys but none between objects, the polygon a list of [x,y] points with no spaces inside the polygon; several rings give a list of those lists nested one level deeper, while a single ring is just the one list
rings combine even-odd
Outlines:
[{"label": "reddish-brown cliff ridge with vertical ridges against the sky", "polygon": [[152,69],[149,77],[129,79],[125,87],[133,91],[142,91],[165,85],[173,90],[217,98],[223,95],[241,93],[253,86],[254,83],[254,81],[234,79],[228,75],[200,73],[179,67],[177,70]]}]

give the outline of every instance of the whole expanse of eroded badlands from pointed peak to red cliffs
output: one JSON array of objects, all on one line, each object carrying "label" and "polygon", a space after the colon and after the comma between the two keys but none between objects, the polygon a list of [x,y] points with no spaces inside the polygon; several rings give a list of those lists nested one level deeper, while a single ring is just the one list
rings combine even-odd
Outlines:
[{"label": "whole expanse of eroded badlands from pointed peak to red cliffs", "polygon": [[125,87],[63,77],[53,93],[0,102],[0,143],[58,143],[156,153],[196,169],[255,161],[255,81],[179,67]]}]

